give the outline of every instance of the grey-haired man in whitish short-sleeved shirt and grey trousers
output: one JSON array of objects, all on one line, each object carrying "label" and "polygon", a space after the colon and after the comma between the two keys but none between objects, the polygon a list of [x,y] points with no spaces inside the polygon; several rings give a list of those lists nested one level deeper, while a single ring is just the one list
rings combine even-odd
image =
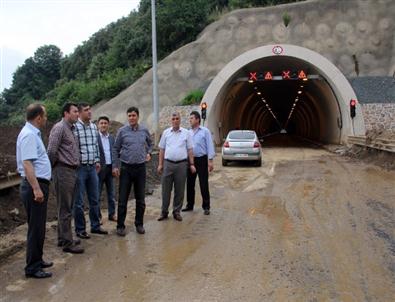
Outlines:
[{"label": "grey-haired man in whitish short-sleeved shirt and grey trousers", "polygon": [[173,186],[173,217],[177,221],[182,221],[180,211],[184,200],[188,166],[191,173],[196,173],[192,136],[187,129],[180,127],[180,124],[180,114],[174,112],[171,116],[172,127],[163,131],[159,142],[158,173],[162,174],[162,213],[158,221],[165,220],[169,216]]}]

